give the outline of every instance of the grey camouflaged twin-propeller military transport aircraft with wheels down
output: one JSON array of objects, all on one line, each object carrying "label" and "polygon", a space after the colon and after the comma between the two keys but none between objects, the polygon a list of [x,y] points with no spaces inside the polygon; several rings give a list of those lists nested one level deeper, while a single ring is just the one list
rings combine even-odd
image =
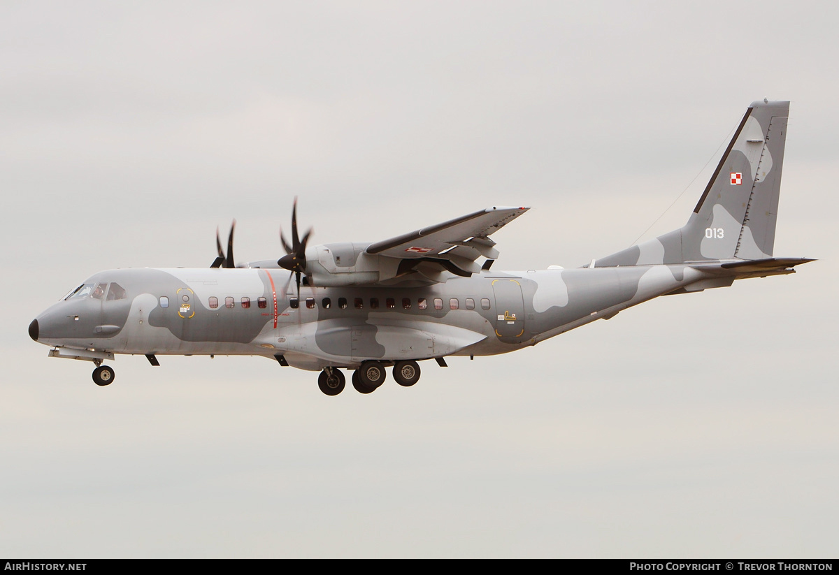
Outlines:
[{"label": "grey camouflaged twin-propeller military transport aircraft with wheels down", "polygon": [[[210,268],[117,269],[73,289],[29,325],[50,357],[103,360],[142,354],[262,355],[319,370],[334,396],[351,369],[362,393],[385,368],[412,386],[421,360],[495,355],[538,344],[672,293],[793,273],[811,262],[773,256],[789,102],[748,107],[684,227],[591,260],[585,267],[496,272],[490,236],[528,210],[491,207],[374,243],[308,246],[296,199],[286,255],[237,266],[233,230]],[[478,263],[482,258],[482,264]],[[292,279],[294,278],[294,283]]]}]

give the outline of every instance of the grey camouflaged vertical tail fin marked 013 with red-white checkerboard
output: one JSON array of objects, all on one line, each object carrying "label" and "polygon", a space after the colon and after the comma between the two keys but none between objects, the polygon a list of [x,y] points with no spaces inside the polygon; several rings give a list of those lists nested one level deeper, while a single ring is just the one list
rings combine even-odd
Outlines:
[{"label": "grey camouflaged vertical tail fin marked 013 with red-white checkerboard", "polygon": [[749,106],[687,224],[597,267],[772,256],[789,101]]}]

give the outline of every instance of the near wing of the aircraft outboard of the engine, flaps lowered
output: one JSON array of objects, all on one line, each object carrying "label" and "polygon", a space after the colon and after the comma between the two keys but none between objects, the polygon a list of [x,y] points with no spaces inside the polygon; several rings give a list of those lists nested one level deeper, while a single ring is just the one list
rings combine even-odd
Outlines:
[{"label": "near wing of the aircraft outboard of the engine, flaps lowered", "polygon": [[489,236],[527,210],[529,208],[493,206],[403,236],[377,241],[367,246],[366,251],[402,260],[403,272],[430,263],[459,276],[469,276],[481,271],[476,262],[478,257],[488,260],[498,257],[495,242]]}]

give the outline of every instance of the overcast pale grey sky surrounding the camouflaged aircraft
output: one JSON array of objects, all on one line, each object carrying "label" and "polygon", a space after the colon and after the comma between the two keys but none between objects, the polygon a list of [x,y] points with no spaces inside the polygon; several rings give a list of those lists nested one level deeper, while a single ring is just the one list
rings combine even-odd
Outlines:
[{"label": "overcast pale grey sky surrounding the camouflaged aircraft", "polygon": [[[0,3],[0,556],[836,557],[837,19]],[[102,269],[208,266],[234,217],[238,258],[279,256],[295,195],[317,242],[529,205],[496,267],[579,266],[677,198],[644,238],[682,225],[764,96],[792,101],[775,255],[820,259],[794,276],[369,396],[237,357],[98,388],[26,333]]]}]

